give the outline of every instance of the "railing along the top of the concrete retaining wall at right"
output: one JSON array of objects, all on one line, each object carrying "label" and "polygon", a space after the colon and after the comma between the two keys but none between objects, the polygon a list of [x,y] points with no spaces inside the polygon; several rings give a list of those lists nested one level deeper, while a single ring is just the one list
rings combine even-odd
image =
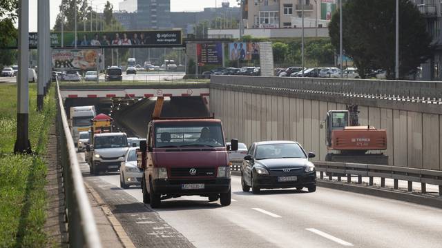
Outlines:
[{"label": "railing along the top of the concrete retaining wall at right", "polygon": [[269,87],[352,96],[441,102],[442,82],[372,79],[291,78],[277,76],[211,76],[211,83],[247,87]]}]

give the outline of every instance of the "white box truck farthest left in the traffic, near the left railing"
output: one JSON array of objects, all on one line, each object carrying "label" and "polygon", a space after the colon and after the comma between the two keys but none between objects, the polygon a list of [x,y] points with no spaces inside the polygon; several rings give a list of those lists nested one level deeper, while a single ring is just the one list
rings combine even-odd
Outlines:
[{"label": "white box truck farthest left in the traffic, near the left railing", "polygon": [[90,130],[90,119],[96,115],[95,106],[70,107],[69,125],[75,144],[77,144],[79,132]]}]

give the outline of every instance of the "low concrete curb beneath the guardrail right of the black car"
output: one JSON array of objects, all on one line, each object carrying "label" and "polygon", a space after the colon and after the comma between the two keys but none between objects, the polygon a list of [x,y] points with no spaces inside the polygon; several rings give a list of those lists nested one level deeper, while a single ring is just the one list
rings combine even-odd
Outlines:
[{"label": "low concrete curb beneath the guardrail right of the black car", "polygon": [[369,187],[364,185],[354,185],[349,183],[325,181],[320,179],[316,180],[316,185],[318,185],[319,187],[326,187],[329,189],[338,189],[346,192],[389,198],[392,200],[402,200],[407,203],[416,203],[419,205],[425,205],[428,207],[437,207],[442,209],[442,198],[426,196],[423,194],[412,194],[388,188],[384,189],[384,188]]}]

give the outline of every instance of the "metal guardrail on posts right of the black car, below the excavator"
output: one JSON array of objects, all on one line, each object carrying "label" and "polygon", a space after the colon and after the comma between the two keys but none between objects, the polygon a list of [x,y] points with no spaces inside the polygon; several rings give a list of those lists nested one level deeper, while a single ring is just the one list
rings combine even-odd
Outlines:
[{"label": "metal guardrail on posts right of the black car, below the excavator", "polygon": [[373,178],[381,178],[381,187],[385,187],[385,178],[394,180],[394,189],[398,189],[398,180],[408,182],[408,191],[412,192],[413,182],[421,183],[421,192],[427,192],[427,183],[439,186],[439,196],[442,196],[442,172],[431,169],[415,169],[409,167],[397,167],[388,165],[365,165],[357,163],[334,163],[325,161],[314,161],[316,171],[320,172],[320,178],[324,173],[332,180],[334,174],[338,181],[342,176],[347,176],[347,182],[352,182],[352,176],[358,176],[358,184],[362,183],[362,177],[369,177],[369,185],[373,185]]}]

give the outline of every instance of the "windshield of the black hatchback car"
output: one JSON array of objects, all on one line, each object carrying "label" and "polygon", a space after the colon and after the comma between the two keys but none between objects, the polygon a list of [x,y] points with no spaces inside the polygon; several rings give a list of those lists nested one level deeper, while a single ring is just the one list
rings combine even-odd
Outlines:
[{"label": "windshield of the black hatchback car", "polygon": [[298,144],[266,144],[256,147],[255,158],[307,158]]}]

